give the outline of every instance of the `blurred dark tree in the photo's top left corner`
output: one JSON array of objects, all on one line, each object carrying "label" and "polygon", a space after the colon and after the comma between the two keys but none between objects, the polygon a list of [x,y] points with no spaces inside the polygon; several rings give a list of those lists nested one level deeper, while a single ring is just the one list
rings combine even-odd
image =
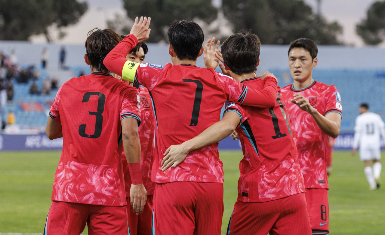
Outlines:
[{"label": "blurred dark tree in the photo's top left corner", "polygon": [[87,3],[77,0],[0,0],[0,40],[28,40],[44,33],[50,42],[47,27],[74,24],[86,10]]}]

